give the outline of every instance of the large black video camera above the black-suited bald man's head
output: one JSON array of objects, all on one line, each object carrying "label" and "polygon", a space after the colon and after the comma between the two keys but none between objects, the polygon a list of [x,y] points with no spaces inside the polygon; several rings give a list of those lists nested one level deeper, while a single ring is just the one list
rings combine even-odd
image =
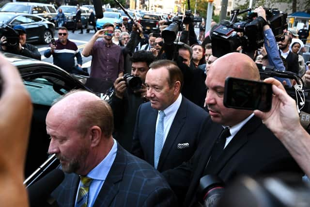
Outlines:
[{"label": "large black video camera above the black-suited bald man's head", "polygon": [[[279,12],[278,9],[264,8],[266,11],[265,21],[262,17],[257,17],[257,13],[250,12],[251,9],[239,12],[239,9],[232,10],[230,21],[221,24],[211,33],[211,43],[217,47],[212,47],[212,54],[221,57],[229,52],[236,51],[242,46],[245,53],[254,52],[263,46],[263,26],[269,24],[276,40],[283,37],[283,30],[287,29],[286,13]],[[248,12],[245,21],[238,21],[237,16]],[[239,36],[237,32],[242,32]]]}]

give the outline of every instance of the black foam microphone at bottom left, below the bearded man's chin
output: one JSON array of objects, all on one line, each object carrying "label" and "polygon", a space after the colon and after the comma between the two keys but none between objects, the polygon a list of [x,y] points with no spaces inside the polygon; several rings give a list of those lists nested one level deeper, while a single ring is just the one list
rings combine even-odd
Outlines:
[{"label": "black foam microphone at bottom left, below the bearded man's chin", "polygon": [[27,188],[30,206],[44,206],[51,192],[62,183],[63,178],[62,170],[55,169]]}]

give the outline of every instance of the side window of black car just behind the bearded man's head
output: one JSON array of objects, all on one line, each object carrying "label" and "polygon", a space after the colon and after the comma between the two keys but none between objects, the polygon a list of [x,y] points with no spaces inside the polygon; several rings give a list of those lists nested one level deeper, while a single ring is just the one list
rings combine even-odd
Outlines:
[{"label": "side window of black car just behind the bearded man's head", "polygon": [[33,104],[51,106],[52,103],[68,93],[69,88],[64,81],[49,75],[37,75],[24,78]]}]

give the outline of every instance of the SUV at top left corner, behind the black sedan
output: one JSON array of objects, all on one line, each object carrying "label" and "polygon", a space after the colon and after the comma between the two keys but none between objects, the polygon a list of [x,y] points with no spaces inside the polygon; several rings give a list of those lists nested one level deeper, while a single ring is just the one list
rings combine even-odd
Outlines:
[{"label": "SUV at top left corner, behind the black sedan", "polygon": [[1,12],[18,12],[41,16],[50,22],[54,22],[57,16],[56,9],[53,5],[47,3],[33,2],[9,2],[0,10]]}]

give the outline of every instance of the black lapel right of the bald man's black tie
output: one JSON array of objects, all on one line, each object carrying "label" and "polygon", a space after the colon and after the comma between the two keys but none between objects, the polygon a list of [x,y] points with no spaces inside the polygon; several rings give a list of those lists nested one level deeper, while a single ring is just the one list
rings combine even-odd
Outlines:
[{"label": "black lapel right of the bald man's black tie", "polygon": [[233,157],[238,150],[248,142],[248,134],[251,133],[255,128],[262,124],[261,119],[253,116],[248,122],[237,132],[231,142],[225,147],[225,150],[218,158],[218,163],[213,172],[219,174],[225,164]]}]

